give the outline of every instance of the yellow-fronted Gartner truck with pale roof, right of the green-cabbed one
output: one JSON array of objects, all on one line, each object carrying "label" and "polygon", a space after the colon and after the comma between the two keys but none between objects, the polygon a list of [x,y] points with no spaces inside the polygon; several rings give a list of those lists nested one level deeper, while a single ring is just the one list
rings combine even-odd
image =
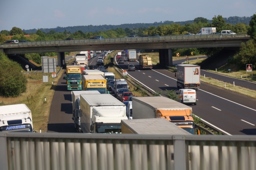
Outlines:
[{"label": "yellow-fronted Gartner truck with pale roof, right of the green-cabbed one", "polygon": [[98,90],[101,94],[109,93],[107,80],[102,75],[83,75],[83,90]]}]

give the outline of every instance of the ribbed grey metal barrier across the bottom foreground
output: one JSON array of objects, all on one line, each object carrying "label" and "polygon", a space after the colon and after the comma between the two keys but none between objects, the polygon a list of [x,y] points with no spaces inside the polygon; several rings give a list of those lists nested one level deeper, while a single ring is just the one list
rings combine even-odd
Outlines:
[{"label": "ribbed grey metal barrier across the bottom foreground", "polygon": [[255,170],[254,135],[0,132],[1,170]]}]

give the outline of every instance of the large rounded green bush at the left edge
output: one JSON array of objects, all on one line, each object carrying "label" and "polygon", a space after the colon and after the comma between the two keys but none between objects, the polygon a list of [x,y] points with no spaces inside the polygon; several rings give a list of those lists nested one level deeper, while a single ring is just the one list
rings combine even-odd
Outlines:
[{"label": "large rounded green bush at the left edge", "polygon": [[27,79],[21,66],[0,52],[0,95],[15,97],[26,92]]}]

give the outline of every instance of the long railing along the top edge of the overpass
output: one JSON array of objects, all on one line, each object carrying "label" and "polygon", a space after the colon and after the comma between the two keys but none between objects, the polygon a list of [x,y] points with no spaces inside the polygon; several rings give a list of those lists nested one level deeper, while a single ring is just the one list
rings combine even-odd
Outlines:
[{"label": "long railing along the top edge of the overpass", "polygon": [[145,41],[170,41],[180,39],[209,39],[209,38],[234,38],[234,37],[249,37],[247,34],[235,35],[220,35],[220,34],[207,34],[207,35],[166,35],[159,37],[121,37],[121,38],[105,38],[105,39],[74,39],[74,40],[54,40],[54,41],[30,41],[23,43],[1,44],[0,47],[22,47],[28,45],[72,45],[78,43],[120,43],[120,42],[145,42]]}]

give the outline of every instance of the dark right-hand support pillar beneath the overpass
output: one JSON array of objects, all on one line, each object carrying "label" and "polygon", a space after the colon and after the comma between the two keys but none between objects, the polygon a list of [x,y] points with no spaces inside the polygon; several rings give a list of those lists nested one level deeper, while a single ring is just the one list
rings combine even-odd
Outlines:
[{"label": "dark right-hand support pillar beneath the overpass", "polygon": [[165,66],[173,65],[171,49],[159,49],[159,64]]}]

